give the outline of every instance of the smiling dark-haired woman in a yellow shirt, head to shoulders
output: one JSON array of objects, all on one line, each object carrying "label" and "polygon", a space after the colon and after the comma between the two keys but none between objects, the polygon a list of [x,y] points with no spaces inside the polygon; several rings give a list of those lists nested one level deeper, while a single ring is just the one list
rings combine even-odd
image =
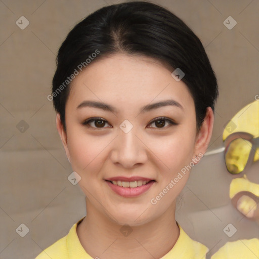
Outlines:
[{"label": "smiling dark-haired woman in a yellow shirt, head to shoulders", "polygon": [[104,7],[69,32],[52,93],[96,49],[53,95],[87,215],[37,259],[202,258],[208,248],[175,219],[177,197],[210,141],[218,97],[200,40],[158,5]]}]

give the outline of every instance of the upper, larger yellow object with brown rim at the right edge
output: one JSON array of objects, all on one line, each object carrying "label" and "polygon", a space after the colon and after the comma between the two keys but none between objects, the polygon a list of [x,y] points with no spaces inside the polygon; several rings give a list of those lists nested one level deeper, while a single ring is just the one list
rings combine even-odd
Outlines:
[{"label": "upper, larger yellow object with brown rim at the right edge", "polygon": [[234,176],[259,160],[259,101],[242,108],[224,128],[225,163]]}]

